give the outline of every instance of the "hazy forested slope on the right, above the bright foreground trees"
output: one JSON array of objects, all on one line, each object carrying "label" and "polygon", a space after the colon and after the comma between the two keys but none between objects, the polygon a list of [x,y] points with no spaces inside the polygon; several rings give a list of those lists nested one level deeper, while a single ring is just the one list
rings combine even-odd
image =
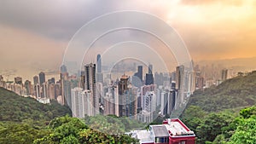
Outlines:
[{"label": "hazy forested slope on the right, above the bright foreground trees", "polygon": [[198,106],[207,112],[253,106],[256,102],[256,72],[224,81],[218,86],[196,90],[188,106]]}]

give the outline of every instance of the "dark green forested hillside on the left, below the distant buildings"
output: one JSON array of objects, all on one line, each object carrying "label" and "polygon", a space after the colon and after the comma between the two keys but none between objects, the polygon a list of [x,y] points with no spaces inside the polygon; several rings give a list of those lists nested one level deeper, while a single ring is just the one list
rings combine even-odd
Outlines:
[{"label": "dark green forested hillside on the left, below the distant buildings", "polygon": [[71,115],[70,109],[56,101],[42,104],[30,97],[22,97],[8,89],[0,88],[0,121],[49,121],[65,115]]}]

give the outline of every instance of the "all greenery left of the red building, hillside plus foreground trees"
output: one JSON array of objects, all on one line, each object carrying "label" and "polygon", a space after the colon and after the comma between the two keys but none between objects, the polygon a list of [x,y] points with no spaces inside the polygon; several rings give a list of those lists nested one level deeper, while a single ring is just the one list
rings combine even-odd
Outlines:
[{"label": "all greenery left of the red building, hillside plus foreground trees", "polygon": [[[109,135],[109,133],[90,129],[81,119],[69,117],[71,115],[69,108],[59,105],[56,101],[51,101],[51,104],[41,104],[32,98],[21,97],[3,88],[0,88],[0,98],[0,143],[70,144],[137,142],[130,135]],[[94,124],[92,122],[100,124],[102,118],[102,116],[92,117],[90,118],[90,123],[92,125]],[[111,119],[113,120],[109,116],[108,120]],[[118,122],[117,119],[114,120],[113,123]],[[131,123],[131,125],[137,126],[135,122],[127,118],[119,120],[119,123]],[[126,128],[127,126],[124,125],[124,127]]]}]

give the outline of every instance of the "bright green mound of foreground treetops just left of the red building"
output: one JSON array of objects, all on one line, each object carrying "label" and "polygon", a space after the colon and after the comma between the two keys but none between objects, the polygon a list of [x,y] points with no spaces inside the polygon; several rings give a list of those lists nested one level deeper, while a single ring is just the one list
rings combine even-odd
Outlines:
[{"label": "bright green mound of foreground treetops just left of the red building", "polygon": [[109,135],[90,129],[79,118],[55,118],[49,123],[49,135],[34,143],[136,143],[130,135]]}]

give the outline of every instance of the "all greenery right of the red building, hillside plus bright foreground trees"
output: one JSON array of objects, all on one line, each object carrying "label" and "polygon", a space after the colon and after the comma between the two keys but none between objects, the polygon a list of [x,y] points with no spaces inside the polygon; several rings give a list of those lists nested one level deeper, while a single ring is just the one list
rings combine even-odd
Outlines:
[{"label": "all greenery right of the red building, hillside plus bright foreground trees", "polygon": [[200,144],[253,144],[256,141],[255,88],[256,72],[250,72],[217,87],[197,90],[183,112],[183,123],[195,131]]}]

